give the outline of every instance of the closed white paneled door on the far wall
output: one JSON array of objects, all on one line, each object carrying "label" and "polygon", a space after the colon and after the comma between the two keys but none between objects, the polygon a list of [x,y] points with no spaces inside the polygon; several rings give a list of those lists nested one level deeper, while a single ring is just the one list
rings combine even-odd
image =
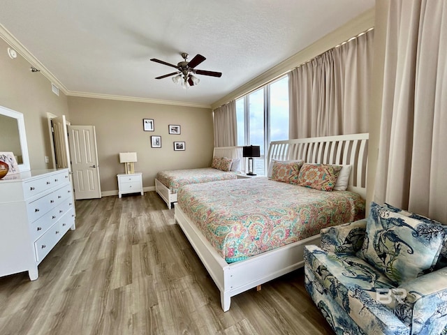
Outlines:
[{"label": "closed white paneled door on the far wall", "polygon": [[75,199],[101,198],[94,126],[68,126]]}]

